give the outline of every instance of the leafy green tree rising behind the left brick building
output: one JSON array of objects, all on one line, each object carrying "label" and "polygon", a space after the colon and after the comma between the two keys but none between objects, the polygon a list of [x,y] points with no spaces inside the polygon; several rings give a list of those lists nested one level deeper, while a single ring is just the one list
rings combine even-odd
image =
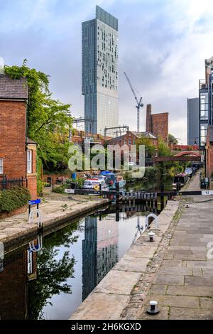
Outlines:
[{"label": "leafy green tree rising behind the left brick building", "polygon": [[[70,104],[62,104],[51,97],[49,77],[28,68],[27,60],[21,66],[6,66],[5,72],[14,80],[26,77],[29,87],[27,107],[27,134],[38,143],[38,157],[49,171],[67,168],[68,131],[72,119]],[[38,184],[40,190],[40,183]]]}]

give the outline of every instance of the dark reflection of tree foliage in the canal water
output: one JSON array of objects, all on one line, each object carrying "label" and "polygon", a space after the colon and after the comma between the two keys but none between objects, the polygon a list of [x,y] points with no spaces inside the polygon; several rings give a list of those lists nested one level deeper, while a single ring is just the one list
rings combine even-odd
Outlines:
[{"label": "dark reflection of tree foliage in the canal water", "polygon": [[52,296],[72,293],[67,279],[74,276],[75,257],[69,250],[62,253],[59,247],[63,245],[70,249],[77,242],[78,236],[72,235],[76,229],[77,223],[45,237],[43,249],[37,257],[37,279],[28,282],[29,319],[44,318],[43,308],[52,305]]}]

